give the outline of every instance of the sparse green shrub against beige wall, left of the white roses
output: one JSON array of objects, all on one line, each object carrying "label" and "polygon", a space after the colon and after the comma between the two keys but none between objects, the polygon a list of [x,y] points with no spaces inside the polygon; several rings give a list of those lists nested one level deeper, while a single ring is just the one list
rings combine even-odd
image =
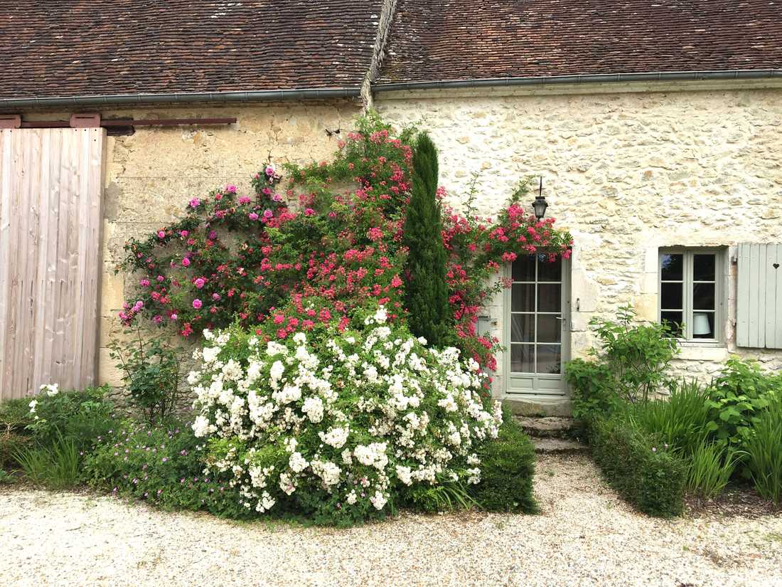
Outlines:
[{"label": "sparse green shrub against beige wall, left of the white roses", "polygon": [[126,329],[125,337],[112,337],[109,356],[124,373],[125,391],[149,422],[171,416],[177,406],[181,351],[167,344],[160,333]]}]

